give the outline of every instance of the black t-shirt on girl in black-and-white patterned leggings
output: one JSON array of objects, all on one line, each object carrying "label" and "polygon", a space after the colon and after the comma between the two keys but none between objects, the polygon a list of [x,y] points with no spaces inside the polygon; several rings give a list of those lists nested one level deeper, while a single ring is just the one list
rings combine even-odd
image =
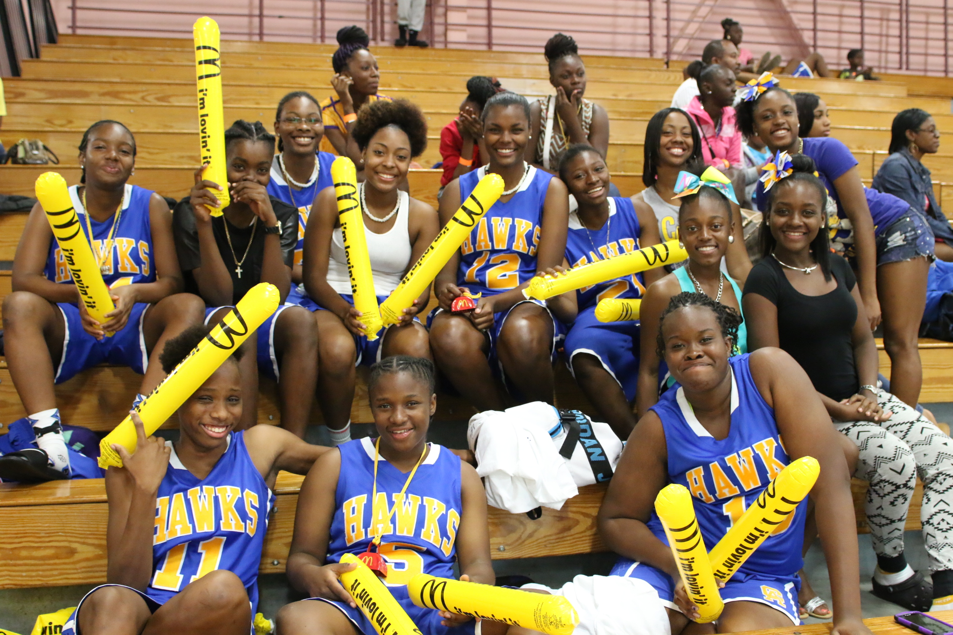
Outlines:
[{"label": "black t-shirt on girl in black-and-white patterned leggings", "polygon": [[[818,268],[814,275],[820,273]],[[851,337],[857,304],[850,291],[857,278],[847,261],[834,254],[831,273],[836,289],[824,295],[802,295],[774,258],[764,258],[748,274],[744,295],[757,293],[778,308],[781,348],[798,361],[818,392],[841,401],[860,387]]]}]

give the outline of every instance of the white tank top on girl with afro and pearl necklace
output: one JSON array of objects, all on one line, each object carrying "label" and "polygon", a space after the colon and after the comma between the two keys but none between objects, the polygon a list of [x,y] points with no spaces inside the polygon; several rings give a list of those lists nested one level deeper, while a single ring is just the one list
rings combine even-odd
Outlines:
[{"label": "white tank top on girl with afro and pearl necklace", "polygon": [[[389,295],[400,284],[404,271],[411,262],[411,235],[407,228],[410,216],[410,195],[397,190],[400,203],[394,227],[387,233],[375,233],[367,228],[374,223],[364,215],[364,236],[371,254],[371,270],[374,272],[376,295]],[[351,294],[351,276],[348,274],[348,259],[344,253],[344,237],[341,228],[335,228],[331,237],[331,262],[328,263],[328,284],[338,293]]]}]

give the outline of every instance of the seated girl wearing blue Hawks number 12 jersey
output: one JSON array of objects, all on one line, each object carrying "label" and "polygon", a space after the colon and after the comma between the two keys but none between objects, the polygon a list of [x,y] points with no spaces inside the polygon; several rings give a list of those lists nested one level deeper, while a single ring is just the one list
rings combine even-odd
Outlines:
[{"label": "seated girl wearing blue Hawks number 12 jersey", "polygon": [[[480,410],[505,407],[495,371],[517,389],[517,400],[552,403],[558,327],[546,303],[527,301],[522,288],[537,271],[562,264],[568,192],[558,178],[523,161],[531,138],[525,98],[497,93],[482,119],[490,163],[443,190],[440,222],[450,222],[487,173],[503,177],[503,195],[436,277],[431,348],[437,367]],[[464,291],[481,294],[476,309],[452,313],[451,303]]]}]

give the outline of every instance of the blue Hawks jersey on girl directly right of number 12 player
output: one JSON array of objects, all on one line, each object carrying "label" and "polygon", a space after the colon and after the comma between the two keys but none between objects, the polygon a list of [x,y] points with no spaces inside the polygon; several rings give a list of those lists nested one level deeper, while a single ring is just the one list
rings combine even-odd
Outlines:
[{"label": "blue Hawks jersey on girl directly right of number 12 player", "polygon": [[[576,212],[569,214],[569,232],[566,235],[566,260],[570,267],[612,258],[639,250],[639,216],[629,198],[609,198],[609,220],[599,229],[587,229],[579,222]],[[577,291],[579,310],[593,307],[599,300],[609,298],[640,298],[645,294],[642,274],[614,278]]]}]

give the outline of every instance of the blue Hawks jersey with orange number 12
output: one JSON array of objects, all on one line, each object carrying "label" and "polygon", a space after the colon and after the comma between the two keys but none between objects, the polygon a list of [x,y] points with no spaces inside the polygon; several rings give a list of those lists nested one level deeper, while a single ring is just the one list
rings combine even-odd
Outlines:
[{"label": "blue Hawks jersey with orange number 12", "polygon": [[[460,201],[466,201],[486,166],[459,177]],[[497,201],[460,247],[456,284],[472,293],[496,295],[536,275],[542,230],[542,206],[553,175],[530,167],[522,187],[506,203]]]}]

